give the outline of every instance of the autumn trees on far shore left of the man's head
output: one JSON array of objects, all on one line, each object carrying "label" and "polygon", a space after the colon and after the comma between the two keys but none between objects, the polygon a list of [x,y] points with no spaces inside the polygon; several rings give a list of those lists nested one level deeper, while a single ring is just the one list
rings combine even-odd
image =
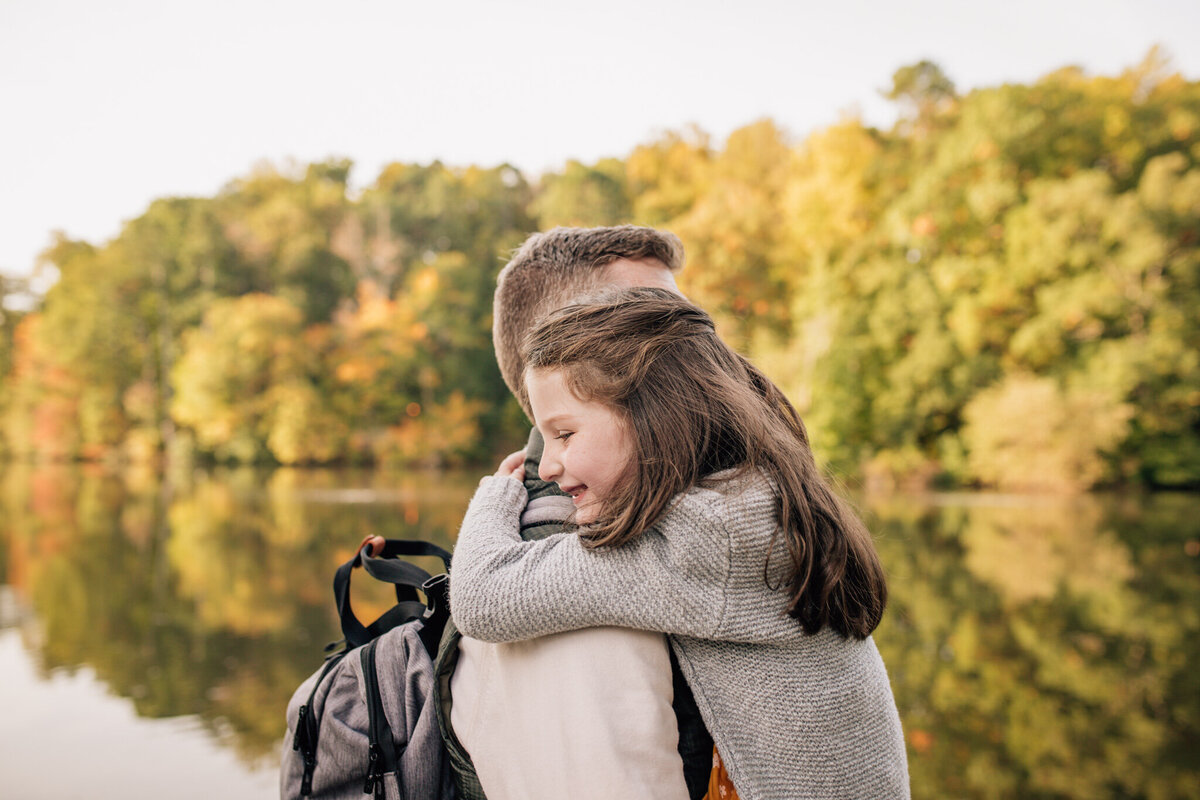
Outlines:
[{"label": "autumn trees on far shore left of the man's head", "polygon": [[[520,410],[491,355],[502,254],[536,221],[517,170],[264,167],[60,240],[16,326],[14,457],[414,463],[491,453]],[[517,426],[520,427],[520,426]]]}]

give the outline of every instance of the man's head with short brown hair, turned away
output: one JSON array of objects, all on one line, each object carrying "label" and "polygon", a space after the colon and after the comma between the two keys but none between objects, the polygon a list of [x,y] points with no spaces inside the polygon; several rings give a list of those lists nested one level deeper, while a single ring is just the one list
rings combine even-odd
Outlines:
[{"label": "man's head with short brown hair, turned away", "polygon": [[492,341],[509,390],[523,395],[521,343],[540,317],[604,287],[678,291],[673,273],[682,267],[678,236],[654,228],[554,228],[529,236],[496,282]]}]

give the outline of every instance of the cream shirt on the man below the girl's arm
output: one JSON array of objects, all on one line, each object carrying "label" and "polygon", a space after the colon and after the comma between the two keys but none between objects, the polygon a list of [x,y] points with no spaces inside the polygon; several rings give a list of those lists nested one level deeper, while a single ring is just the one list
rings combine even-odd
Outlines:
[{"label": "cream shirt on the man below the girl's arm", "polygon": [[688,800],[661,633],[463,637],[450,722],[488,800]]}]

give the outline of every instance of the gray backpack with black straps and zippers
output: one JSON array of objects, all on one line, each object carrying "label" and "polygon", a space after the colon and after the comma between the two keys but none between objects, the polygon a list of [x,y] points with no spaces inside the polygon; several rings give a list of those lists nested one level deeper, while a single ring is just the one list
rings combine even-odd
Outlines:
[{"label": "gray backpack with black straps and zippers", "polygon": [[[377,558],[368,549],[334,576],[344,639],[325,648],[325,663],[288,703],[280,796],[455,800],[433,708],[432,655],[449,618],[449,581],[396,558],[433,555],[449,570],[450,553],[396,539]],[[396,587],[396,604],[370,625],[350,608],[350,573],[359,565]]]}]

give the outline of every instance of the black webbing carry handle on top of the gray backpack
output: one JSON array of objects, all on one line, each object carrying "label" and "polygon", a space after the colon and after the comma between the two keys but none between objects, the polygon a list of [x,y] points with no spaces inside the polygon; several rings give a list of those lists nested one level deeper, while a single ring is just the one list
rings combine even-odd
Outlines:
[{"label": "black webbing carry handle on top of the gray backpack", "polygon": [[[370,546],[364,546],[334,573],[334,599],[337,602],[337,615],[347,650],[361,646],[397,625],[426,615],[427,607],[416,599],[416,590],[421,589],[432,576],[414,564],[396,559],[397,555],[432,555],[442,559],[446,569],[450,566],[450,553],[437,545],[419,540],[389,539],[378,558],[372,558],[368,554],[370,549]],[[396,604],[370,625],[359,621],[350,607],[350,573],[360,565],[372,577],[396,587]]]}]

